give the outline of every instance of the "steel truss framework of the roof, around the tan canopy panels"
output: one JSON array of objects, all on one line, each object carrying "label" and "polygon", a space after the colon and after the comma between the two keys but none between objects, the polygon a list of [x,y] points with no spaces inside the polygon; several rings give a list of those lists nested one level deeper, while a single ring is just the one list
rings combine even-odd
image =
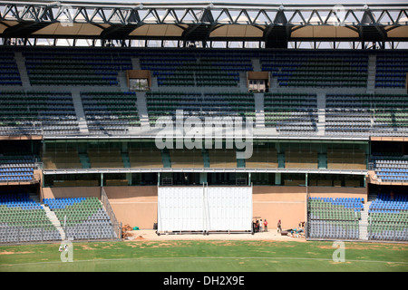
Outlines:
[{"label": "steel truss framework of the roof, around the tan canopy panels", "polygon": [[[276,5],[276,4],[234,4],[234,3],[92,3],[48,1],[24,2],[2,1],[0,3],[0,22],[15,27],[6,28],[0,37],[36,37],[38,29],[47,24],[67,22],[72,24],[94,24],[103,27],[102,35],[88,38],[135,39],[131,31],[141,25],[175,24],[184,29],[181,35],[172,36],[173,40],[211,40],[210,33],[219,25],[250,25],[264,30],[258,41],[276,42],[279,37],[285,41],[291,39],[292,29],[299,26],[346,25],[360,34],[361,41],[389,41],[385,28],[407,26],[408,4],[343,5],[345,17],[342,18],[333,5]],[[328,15],[327,15],[328,14]],[[398,16],[395,16],[398,14]],[[252,15],[252,17],[251,17]],[[323,16],[326,15],[326,16]],[[343,14],[342,14],[343,15]],[[375,17],[377,15],[377,17]],[[379,15],[379,16],[378,16]],[[393,16],[392,16],[393,15]],[[337,21],[333,20],[337,19]],[[342,22],[343,20],[344,22]],[[11,25],[10,25],[11,26]],[[285,31],[285,33],[284,33]],[[50,37],[59,38],[54,34]],[[82,38],[86,35],[74,35]],[[149,38],[148,36],[140,36]],[[226,36],[228,38],[228,35]],[[155,35],[153,38],[159,38]],[[164,34],[161,38],[169,39]],[[170,37],[171,38],[171,37]],[[256,38],[256,37],[255,37]],[[318,38],[318,35],[316,36]],[[254,37],[249,36],[253,40]],[[327,41],[336,41],[333,37]],[[408,41],[408,35],[403,38]],[[230,37],[238,40],[238,37]],[[280,39],[283,41],[283,39]]]}]

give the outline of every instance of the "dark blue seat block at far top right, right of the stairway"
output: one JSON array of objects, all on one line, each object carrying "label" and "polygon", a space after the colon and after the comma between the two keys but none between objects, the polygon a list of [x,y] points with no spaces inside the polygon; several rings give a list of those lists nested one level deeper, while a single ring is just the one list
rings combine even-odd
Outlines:
[{"label": "dark blue seat block at far top right, right of the stairway", "polygon": [[378,52],[376,56],[376,88],[404,88],[408,72],[406,52]]}]

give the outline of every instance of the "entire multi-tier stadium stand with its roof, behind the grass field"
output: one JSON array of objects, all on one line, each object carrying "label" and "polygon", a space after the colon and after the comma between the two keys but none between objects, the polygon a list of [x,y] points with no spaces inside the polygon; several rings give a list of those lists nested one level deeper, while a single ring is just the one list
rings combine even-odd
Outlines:
[{"label": "entire multi-tier stadium stand with its roof, behind the grass field", "polygon": [[[160,187],[204,185],[253,186],[254,216],[307,217],[307,238],[408,240],[406,5],[345,5],[347,27],[331,5],[78,2],[73,25],[59,5],[0,3],[0,243],[120,238],[94,192],[151,227]],[[253,154],[159,149],[180,111],[253,119]]]}]

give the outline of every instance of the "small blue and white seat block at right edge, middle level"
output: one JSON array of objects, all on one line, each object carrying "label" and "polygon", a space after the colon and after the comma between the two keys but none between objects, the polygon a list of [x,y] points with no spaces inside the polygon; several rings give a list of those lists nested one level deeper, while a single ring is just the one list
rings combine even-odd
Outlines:
[{"label": "small blue and white seat block at right edge, middle level", "polygon": [[408,160],[402,155],[374,155],[372,161],[381,182],[408,182]]}]

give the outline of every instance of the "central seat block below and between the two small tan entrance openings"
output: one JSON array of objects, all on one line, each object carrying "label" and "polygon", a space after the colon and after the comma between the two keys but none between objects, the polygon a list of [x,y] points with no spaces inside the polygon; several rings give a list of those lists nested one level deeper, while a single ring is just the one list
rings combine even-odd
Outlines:
[{"label": "central seat block below and between the two small tan entrance openings", "polygon": [[[255,117],[254,95],[250,92],[147,92],[147,107],[151,125],[161,116],[170,116],[176,120],[176,110],[182,110],[184,118],[195,116],[204,121],[206,117],[239,116],[243,120]],[[229,125],[229,124],[228,124]]]}]

